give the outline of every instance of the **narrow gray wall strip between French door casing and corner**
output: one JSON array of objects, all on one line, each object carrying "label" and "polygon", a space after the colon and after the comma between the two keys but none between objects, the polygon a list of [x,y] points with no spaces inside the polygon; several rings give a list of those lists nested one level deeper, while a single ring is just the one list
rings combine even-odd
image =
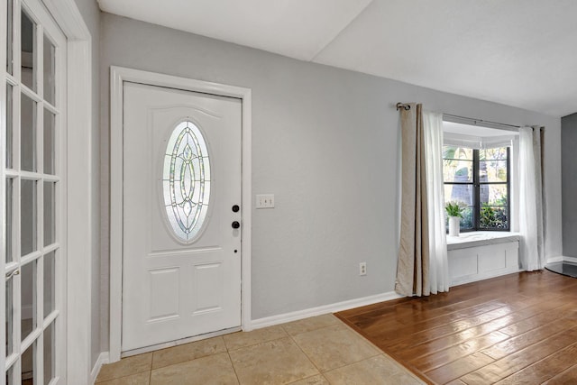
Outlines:
[{"label": "narrow gray wall strip between French door casing and corner", "polygon": [[[103,316],[100,313],[100,289],[101,289],[101,277],[100,277],[100,115],[98,111],[100,109],[100,78],[98,77],[98,69],[100,65],[100,9],[96,4],[96,0],[75,0],[78,5],[78,10],[87,23],[88,30],[92,35],[92,153],[90,154],[92,160],[92,293],[91,293],[91,357],[90,362],[92,365],[96,362],[98,354],[103,350],[101,344],[101,325]],[[106,295],[107,292],[106,292]],[[106,337],[107,338],[107,337]],[[107,346],[107,340],[106,345]]]}]

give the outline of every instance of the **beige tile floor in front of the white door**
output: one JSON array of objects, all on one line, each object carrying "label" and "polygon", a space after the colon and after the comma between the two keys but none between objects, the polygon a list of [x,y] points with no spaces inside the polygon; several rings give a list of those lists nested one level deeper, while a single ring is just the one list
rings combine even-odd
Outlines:
[{"label": "beige tile floor in front of the white door", "polygon": [[333,315],[124,358],[98,385],[423,384]]}]

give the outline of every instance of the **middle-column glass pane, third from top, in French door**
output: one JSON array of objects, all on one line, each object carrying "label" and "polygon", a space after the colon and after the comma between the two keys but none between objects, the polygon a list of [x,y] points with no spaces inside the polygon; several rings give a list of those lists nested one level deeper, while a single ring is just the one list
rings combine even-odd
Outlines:
[{"label": "middle-column glass pane, third from top, in French door", "polygon": [[21,255],[36,250],[36,183],[26,179],[21,182]]}]

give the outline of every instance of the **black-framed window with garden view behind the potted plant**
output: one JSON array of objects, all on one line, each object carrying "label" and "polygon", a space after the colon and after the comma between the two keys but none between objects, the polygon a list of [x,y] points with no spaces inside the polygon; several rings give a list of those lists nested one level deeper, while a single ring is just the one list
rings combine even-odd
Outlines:
[{"label": "black-framed window with garden view behind the potted plant", "polygon": [[463,207],[461,231],[509,230],[510,149],[444,145],[444,200]]}]

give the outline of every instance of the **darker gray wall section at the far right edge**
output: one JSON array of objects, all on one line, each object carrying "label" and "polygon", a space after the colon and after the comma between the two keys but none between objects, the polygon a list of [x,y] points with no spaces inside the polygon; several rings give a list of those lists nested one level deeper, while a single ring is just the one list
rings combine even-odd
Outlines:
[{"label": "darker gray wall section at the far right edge", "polygon": [[577,114],[561,120],[563,255],[577,257]]}]

